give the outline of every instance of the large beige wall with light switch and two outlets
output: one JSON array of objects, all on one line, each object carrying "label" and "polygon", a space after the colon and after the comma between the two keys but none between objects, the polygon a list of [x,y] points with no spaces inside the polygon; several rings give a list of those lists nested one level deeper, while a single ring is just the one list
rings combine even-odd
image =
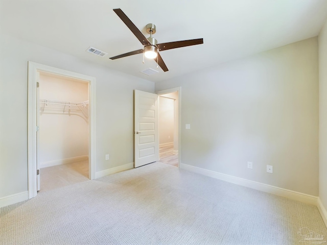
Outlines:
[{"label": "large beige wall with light switch and two outlets", "polygon": [[178,86],[183,164],[318,195],[317,38],[159,82],[155,90]]}]

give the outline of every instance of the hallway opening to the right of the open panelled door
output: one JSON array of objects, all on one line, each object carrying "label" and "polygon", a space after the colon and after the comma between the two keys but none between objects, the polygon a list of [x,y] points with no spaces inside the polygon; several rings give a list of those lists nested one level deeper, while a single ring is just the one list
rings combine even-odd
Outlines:
[{"label": "hallway opening to the right of the open panelled door", "polygon": [[180,162],[180,88],[158,91],[159,161],[179,167]]}]

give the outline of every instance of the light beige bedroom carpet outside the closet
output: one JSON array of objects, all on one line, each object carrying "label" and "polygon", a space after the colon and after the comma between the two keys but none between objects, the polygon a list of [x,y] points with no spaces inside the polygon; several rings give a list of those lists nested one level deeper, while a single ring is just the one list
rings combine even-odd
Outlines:
[{"label": "light beige bedroom carpet outside the closet", "polygon": [[303,244],[317,207],[152,163],[0,209],[1,244]]}]

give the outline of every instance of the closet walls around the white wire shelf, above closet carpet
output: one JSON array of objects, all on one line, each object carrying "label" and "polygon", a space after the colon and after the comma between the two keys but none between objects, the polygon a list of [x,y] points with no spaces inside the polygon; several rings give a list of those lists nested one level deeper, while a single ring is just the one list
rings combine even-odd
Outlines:
[{"label": "closet walls around the white wire shelf, above closet carpet", "polygon": [[[88,103],[88,83],[46,72],[40,73],[39,83],[41,167],[86,160],[89,154],[89,107],[88,104],[69,106],[69,102]],[[68,102],[68,105],[51,101]]]}]

